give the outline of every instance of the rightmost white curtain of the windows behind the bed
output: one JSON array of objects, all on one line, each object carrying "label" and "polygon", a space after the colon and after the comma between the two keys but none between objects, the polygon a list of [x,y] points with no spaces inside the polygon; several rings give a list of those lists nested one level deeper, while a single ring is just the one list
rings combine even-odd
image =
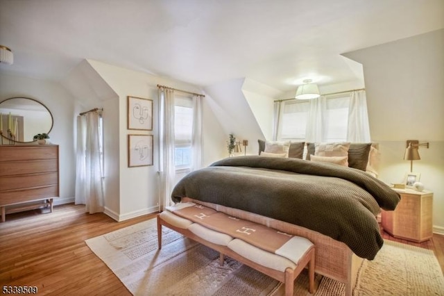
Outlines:
[{"label": "rightmost white curtain of the windows behind the bed", "polygon": [[364,90],[358,90],[350,94],[347,140],[350,142],[370,142],[367,99]]}]

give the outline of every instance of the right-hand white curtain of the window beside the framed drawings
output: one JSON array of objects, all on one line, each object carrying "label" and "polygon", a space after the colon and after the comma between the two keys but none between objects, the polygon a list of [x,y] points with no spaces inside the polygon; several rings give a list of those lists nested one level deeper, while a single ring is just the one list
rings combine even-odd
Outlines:
[{"label": "right-hand white curtain of the window beside the framed drawings", "polygon": [[191,136],[191,171],[202,167],[202,97],[193,96],[193,132]]}]

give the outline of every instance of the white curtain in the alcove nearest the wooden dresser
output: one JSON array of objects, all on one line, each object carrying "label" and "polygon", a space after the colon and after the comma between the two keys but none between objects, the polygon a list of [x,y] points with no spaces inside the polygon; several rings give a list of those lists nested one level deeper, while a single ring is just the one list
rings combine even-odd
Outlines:
[{"label": "white curtain in the alcove nearest the wooden dresser", "polygon": [[77,158],[75,203],[85,204],[87,213],[104,208],[103,170],[100,151],[99,114],[77,117]]}]

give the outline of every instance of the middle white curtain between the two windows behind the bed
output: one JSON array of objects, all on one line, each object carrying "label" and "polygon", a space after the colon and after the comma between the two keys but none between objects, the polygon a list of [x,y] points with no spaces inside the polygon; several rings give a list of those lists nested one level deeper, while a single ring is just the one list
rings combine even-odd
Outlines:
[{"label": "middle white curtain between the two windows behind the bed", "polygon": [[307,142],[323,141],[323,131],[325,130],[323,112],[326,108],[327,103],[324,96],[310,100],[307,128],[305,130],[305,140]]}]

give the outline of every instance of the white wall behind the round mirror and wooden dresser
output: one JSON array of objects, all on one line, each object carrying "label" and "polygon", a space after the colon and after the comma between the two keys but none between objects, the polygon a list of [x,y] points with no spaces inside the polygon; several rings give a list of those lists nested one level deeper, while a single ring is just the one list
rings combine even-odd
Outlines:
[{"label": "white wall behind the round mirror and wooden dresser", "polygon": [[74,99],[60,83],[0,73],[0,101],[28,97],[44,104],[53,115],[51,142],[59,145],[60,198],[55,204],[74,201],[76,161],[73,147]]}]

